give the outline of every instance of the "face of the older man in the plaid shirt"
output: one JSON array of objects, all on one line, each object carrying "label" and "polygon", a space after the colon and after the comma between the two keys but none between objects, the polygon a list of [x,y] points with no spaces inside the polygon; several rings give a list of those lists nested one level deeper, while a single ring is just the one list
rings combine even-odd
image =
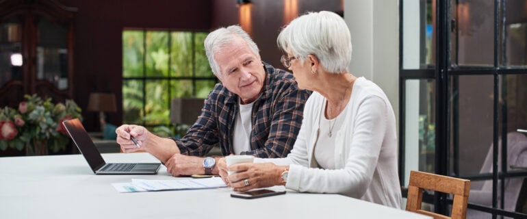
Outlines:
[{"label": "face of the older man in the plaid shirt", "polygon": [[229,91],[240,96],[242,104],[255,101],[262,88],[266,72],[259,55],[237,38],[214,54],[220,67],[219,79]]}]

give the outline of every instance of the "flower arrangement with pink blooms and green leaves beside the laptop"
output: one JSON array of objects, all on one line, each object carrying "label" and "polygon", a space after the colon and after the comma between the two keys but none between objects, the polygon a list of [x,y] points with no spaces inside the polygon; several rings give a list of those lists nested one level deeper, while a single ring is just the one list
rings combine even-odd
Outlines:
[{"label": "flower arrangement with pink blooms and green leaves beside the laptop", "polygon": [[0,109],[0,150],[26,149],[29,154],[56,153],[66,149],[69,137],[62,121],[81,118],[81,109],[73,100],[51,103],[36,94],[26,94],[18,109]]}]

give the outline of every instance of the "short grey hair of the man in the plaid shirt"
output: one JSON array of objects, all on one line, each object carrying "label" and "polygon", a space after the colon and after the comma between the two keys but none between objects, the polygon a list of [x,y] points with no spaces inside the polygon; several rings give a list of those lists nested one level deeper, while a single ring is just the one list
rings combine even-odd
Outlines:
[{"label": "short grey hair of the man in the plaid shirt", "polygon": [[205,46],[205,54],[209,60],[212,73],[214,73],[214,75],[216,75],[218,78],[220,78],[222,75],[220,73],[220,66],[218,66],[218,63],[214,59],[214,53],[222,49],[222,47],[225,47],[225,45],[230,44],[236,40],[236,37],[242,38],[250,47],[250,50],[253,51],[257,57],[260,57],[258,46],[250,38],[249,34],[247,34],[247,32],[242,29],[242,27],[239,25],[220,27],[207,35],[205,42],[203,42]]}]

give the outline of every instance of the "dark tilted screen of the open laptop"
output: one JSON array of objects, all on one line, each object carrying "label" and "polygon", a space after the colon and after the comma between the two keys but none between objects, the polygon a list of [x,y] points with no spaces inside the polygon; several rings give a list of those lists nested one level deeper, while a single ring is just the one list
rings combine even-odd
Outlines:
[{"label": "dark tilted screen of the open laptop", "polygon": [[81,120],[74,118],[72,120],[66,120],[63,123],[64,127],[66,127],[66,131],[70,134],[71,140],[73,140],[73,143],[77,145],[79,151],[81,151],[84,158],[86,158],[86,161],[90,164],[93,172],[99,170],[101,166],[106,164],[103,156],[101,156],[101,153],[99,153],[97,147],[93,144],[88,132],[86,132],[86,129],[82,126]]}]

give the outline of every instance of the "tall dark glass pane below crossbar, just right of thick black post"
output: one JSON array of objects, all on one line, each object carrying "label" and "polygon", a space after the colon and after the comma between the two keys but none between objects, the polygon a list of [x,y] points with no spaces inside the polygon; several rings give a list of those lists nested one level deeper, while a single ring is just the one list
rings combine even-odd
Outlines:
[{"label": "tall dark glass pane below crossbar, just right of thick black post", "polygon": [[476,175],[493,142],[493,76],[452,76],[450,82],[451,171]]}]

